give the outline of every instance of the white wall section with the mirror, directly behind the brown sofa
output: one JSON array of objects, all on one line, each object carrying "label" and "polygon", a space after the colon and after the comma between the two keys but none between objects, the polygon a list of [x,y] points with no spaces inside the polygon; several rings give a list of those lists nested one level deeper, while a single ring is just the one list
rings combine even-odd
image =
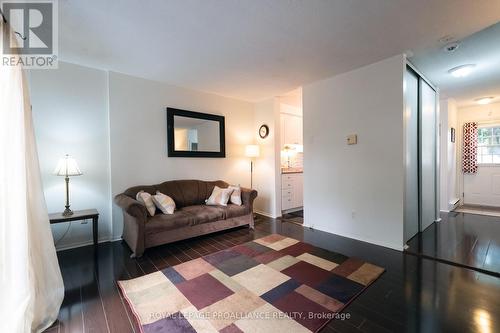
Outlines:
[{"label": "white wall section with the mirror, directly behind the brown sofa", "polygon": [[[224,115],[226,158],[167,157],[168,106]],[[254,141],[253,104],[110,72],[109,112],[113,196],[130,186],[171,179],[250,185],[244,146]],[[122,213],[114,205],[113,237],[121,232]]]}]

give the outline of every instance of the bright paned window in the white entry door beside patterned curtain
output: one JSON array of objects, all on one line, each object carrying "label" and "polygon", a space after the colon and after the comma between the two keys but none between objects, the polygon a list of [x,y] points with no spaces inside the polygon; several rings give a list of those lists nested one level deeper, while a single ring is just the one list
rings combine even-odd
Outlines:
[{"label": "bright paned window in the white entry door beside patterned curtain", "polygon": [[500,125],[477,129],[478,164],[500,164]]}]

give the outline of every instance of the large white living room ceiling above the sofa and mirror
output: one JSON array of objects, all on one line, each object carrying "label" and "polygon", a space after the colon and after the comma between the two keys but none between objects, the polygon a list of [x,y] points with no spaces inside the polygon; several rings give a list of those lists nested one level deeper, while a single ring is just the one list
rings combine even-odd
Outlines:
[{"label": "large white living room ceiling above the sofa and mirror", "polygon": [[60,59],[245,100],[500,21],[498,0],[60,0]]}]

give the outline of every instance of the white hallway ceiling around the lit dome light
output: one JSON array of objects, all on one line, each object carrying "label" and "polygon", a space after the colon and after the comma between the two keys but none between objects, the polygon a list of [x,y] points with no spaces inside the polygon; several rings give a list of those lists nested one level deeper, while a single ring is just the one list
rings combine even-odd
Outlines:
[{"label": "white hallway ceiling around the lit dome light", "polygon": [[[480,97],[496,96],[500,101],[500,23],[462,39],[452,53],[435,47],[415,54],[411,61],[439,87],[442,98],[454,98],[459,107],[475,105]],[[476,65],[469,76],[448,73],[464,64]]]}]

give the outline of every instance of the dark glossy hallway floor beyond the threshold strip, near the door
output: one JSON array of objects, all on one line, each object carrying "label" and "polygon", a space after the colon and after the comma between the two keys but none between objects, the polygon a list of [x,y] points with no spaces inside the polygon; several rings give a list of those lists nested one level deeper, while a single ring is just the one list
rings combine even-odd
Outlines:
[{"label": "dark glossy hallway floor beyond the threshold strip, near the door", "polygon": [[500,217],[452,212],[441,219],[406,251],[500,276]]}]

